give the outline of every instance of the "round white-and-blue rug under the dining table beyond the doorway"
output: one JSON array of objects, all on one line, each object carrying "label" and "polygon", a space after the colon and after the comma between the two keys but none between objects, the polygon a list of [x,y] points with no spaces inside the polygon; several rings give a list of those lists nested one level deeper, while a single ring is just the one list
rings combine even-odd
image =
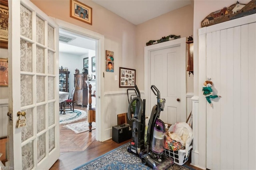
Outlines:
[{"label": "round white-and-blue rug under the dining table beyond the doorway", "polygon": [[66,111],[66,114],[60,114],[60,124],[71,123],[87,117],[87,112],[79,109],[73,111]]}]

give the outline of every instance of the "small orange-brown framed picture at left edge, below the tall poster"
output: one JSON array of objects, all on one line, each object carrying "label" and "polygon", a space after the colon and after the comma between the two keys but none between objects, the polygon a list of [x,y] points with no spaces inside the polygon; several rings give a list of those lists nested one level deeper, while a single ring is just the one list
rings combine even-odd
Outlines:
[{"label": "small orange-brown framed picture at left edge, below the tall poster", "polygon": [[8,86],[8,59],[0,58],[0,86]]}]

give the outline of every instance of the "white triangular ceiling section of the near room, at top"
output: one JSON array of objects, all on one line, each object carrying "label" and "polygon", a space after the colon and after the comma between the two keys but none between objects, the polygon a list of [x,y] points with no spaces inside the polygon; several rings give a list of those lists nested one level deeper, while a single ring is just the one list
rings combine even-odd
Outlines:
[{"label": "white triangular ceiling section of the near room, at top", "polygon": [[192,4],[193,0],[92,0],[134,25]]}]

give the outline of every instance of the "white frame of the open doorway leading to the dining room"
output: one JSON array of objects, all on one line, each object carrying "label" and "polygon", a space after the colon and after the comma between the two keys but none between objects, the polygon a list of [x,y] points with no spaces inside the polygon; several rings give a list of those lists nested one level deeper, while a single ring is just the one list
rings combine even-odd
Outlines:
[{"label": "white frame of the open doorway leading to the dining room", "polygon": [[102,129],[104,126],[101,126],[101,122],[103,121],[100,117],[100,113],[102,110],[101,108],[104,108],[104,95],[101,96],[101,93],[104,93],[104,77],[101,76],[102,71],[104,71],[104,69],[102,69],[104,68],[104,36],[86,28],[70,24],[63,20],[55,19],[55,21],[59,25],[59,27],[64,30],[82,34],[88,38],[96,40],[96,65],[99,66],[96,67],[96,92],[98,96],[96,97],[96,103],[98,106],[96,107],[96,140],[102,141],[103,137],[101,132],[104,131],[104,129]]}]

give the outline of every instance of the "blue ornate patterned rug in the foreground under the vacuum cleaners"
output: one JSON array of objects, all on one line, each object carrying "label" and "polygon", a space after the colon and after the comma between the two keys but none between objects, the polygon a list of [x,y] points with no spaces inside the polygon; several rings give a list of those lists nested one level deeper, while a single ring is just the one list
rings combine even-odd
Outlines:
[{"label": "blue ornate patterned rug in the foreground under the vacuum cleaners", "polygon": [[[124,144],[90,162],[87,162],[74,170],[152,170],[149,166],[142,164],[141,159],[127,151],[129,143]],[[172,164],[168,170],[194,170],[186,165]]]}]

